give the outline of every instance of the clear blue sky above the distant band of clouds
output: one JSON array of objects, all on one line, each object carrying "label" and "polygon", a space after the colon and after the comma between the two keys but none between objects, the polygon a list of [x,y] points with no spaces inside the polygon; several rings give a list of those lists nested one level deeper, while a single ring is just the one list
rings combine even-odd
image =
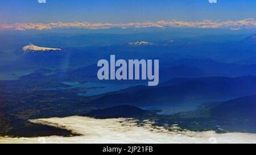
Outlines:
[{"label": "clear blue sky above the distant band of clouds", "polygon": [[0,1],[0,24],[240,20],[255,12],[256,0],[8,0]]}]

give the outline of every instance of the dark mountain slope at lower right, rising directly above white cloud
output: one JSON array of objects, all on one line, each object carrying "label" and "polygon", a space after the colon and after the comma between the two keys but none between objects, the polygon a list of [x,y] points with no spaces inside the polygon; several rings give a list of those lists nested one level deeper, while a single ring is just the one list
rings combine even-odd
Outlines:
[{"label": "dark mountain slope at lower right, rising directly above white cloud", "polygon": [[159,124],[177,123],[192,130],[256,133],[256,95],[207,103],[199,110],[166,116]]}]

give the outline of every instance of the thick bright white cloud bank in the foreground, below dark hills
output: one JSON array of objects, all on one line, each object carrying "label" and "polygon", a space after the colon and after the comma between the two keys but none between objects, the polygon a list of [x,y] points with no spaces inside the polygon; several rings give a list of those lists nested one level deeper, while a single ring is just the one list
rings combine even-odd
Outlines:
[{"label": "thick bright white cloud bank in the foreground, below dark hills", "polygon": [[214,131],[179,131],[174,125],[169,131],[147,120],[138,126],[134,120],[94,119],[82,116],[36,119],[31,122],[69,129],[81,136],[74,137],[0,137],[1,143],[256,143],[253,133],[216,133]]}]

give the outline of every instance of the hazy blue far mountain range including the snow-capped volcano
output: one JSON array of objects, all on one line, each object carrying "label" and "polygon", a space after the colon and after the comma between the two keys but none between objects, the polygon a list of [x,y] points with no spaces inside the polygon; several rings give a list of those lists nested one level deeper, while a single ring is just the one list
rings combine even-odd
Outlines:
[{"label": "hazy blue far mountain range including the snow-capped volcano", "polygon": [[[152,34],[151,34],[152,35]],[[156,35],[156,34],[155,34]],[[164,35],[163,33],[161,36]],[[166,34],[170,35],[170,34]],[[51,35],[50,35],[51,36]],[[154,36],[154,35],[153,35]],[[157,35],[158,36],[158,35]],[[226,37],[228,39],[233,39],[233,37],[238,37],[236,41],[218,41],[222,39],[222,37]],[[1,65],[0,69],[38,69],[38,68],[59,68],[60,66],[67,65],[69,68],[78,68],[82,66],[88,66],[95,64],[99,58],[106,58],[109,55],[116,55],[119,58],[130,59],[130,58],[138,58],[138,59],[152,59],[157,58],[160,61],[160,66],[163,66],[163,62],[166,65],[168,62],[167,68],[171,68],[174,65],[174,62],[177,60],[185,60],[188,59],[195,60],[192,63],[197,63],[197,66],[184,66],[186,68],[191,68],[197,72],[194,76],[191,77],[201,77],[198,76],[198,73],[203,73],[204,77],[206,76],[228,76],[230,77],[229,72],[232,72],[232,77],[237,76],[245,76],[249,74],[240,74],[241,70],[245,70],[247,73],[253,74],[251,72],[250,66],[238,66],[237,64],[255,64],[256,62],[256,50],[253,44],[251,44],[251,40],[254,39],[255,35],[221,35],[221,36],[198,36],[198,37],[164,37],[164,39],[149,39],[150,35],[147,33],[139,33],[136,35],[112,35],[112,34],[87,34],[87,35],[75,35],[75,36],[52,36],[51,40],[53,41],[44,41],[49,40],[49,36],[45,36],[44,38],[37,39],[36,37],[30,38],[31,41],[35,44],[29,44],[23,47],[23,43],[19,46],[11,47],[15,48],[14,53],[16,54],[13,61],[5,61],[6,64]],[[105,38],[102,39],[101,37]],[[160,37],[160,36],[159,36]],[[208,37],[211,38],[209,41]],[[247,37],[247,38],[246,38]],[[246,39],[245,39],[246,38]],[[69,41],[65,41],[65,40]],[[104,41],[119,41],[120,43],[111,44],[106,43],[104,45]],[[214,39],[216,40],[214,42]],[[134,40],[139,40],[135,41]],[[146,40],[146,41],[145,41]],[[97,41],[97,44],[88,44],[93,41]],[[254,41],[253,41],[254,42]],[[65,43],[70,45],[66,45]],[[79,43],[80,45],[77,45]],[[44,47],[40,47],[38,45],[44,45]],[[82,47],[84,45],[84,47]],[[52,48],[52,47],[61,47],[61,48]],[[209,48],[210,47],[210,48]],[[24,53],[32,53],[31,55],[23,56],[20,51],[25,51]],[[47,53],[47,55],[45,55]],[[100,57],[99,57],[100,56]],[[205,60],[204,64],[210,66],[209,69],[201,70],[200,68],[204,68],[204,64],[201,62],[196,62],[197,60]],[[208,61],[208,64],[207,64]],[[212,62],[221,63],[222,65],[218,67],[215,66]],[[212,63],[212,64],[210,64]],[[177,63],[176,66],[183,66],[184,64]],[[229,66],[228,66],[229,65]],[[166,67],[163,66],[163,67]],[[228,66],[228,68],[226,68]],[[206,67],[205,67],[206,68]],[[182,69],[182,68],[181,68]],[[174,71],[177,68],[174,68]],[[208,74],[205,70],[220,70],[220,72],[212,72]],[[237,72],[236,72],[237,70]],[[248,71],[247,71],[248,70]],[[166,72],[166,70],[164,70]],[[226,72],[226,73],[225,73]],[[182,72],[186,73],[186,71]],[[174,77],[188,77],[179,75],[179,73],[174,73],[172,77],[167,77],[166,79],[174,78]],[[192,73],[193,74],[193,73]]]}]

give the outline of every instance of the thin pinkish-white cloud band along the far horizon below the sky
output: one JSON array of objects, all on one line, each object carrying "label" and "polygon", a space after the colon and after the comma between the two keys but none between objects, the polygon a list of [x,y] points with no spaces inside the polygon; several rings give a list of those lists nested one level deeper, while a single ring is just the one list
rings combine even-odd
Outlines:
[{"label": "thin pinkish-white cloud band along the far horizon below the sky", "polygon": [[158,22],[137,22],[137,23],[15,23],[1,24],[0,30],[51,30],[53,28],[88,28],[88,29],[104,29],[104,28],[143,28],[143,27],[193,27],[193,28],[221,28],[221,27],[256,27],[254,19],[248,18],[243,20],[227,20],[224,22],[216,20],[201,20],[196,22],[185,22],[181,20]]}]

